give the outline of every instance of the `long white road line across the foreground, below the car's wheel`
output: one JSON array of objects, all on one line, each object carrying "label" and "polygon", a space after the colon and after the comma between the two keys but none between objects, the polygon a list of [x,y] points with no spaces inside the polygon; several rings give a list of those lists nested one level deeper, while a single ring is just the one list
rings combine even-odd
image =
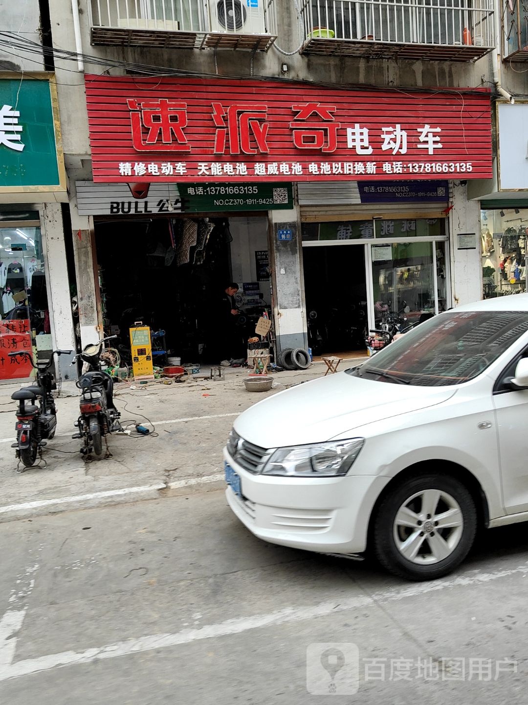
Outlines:
[{"label": "long white road line across the foreground, below the car's wheel", "polygon": [[510,570],[474,573],[447,580],[437,580],[436,582],[413,584],[401,590],[384,590],[373,594],[372,597],[360,595],[338,603],[332,601],[306,607],[287,607],[267,614],[230,619],[218,624],[206,625],[199,629],[185,629],[175,634],[154,634],[137,639],[125,639],[122,642],[105,644],[104,646],[86,649],[85,651],[63,651],[60,654],[27,658],[25,661],[18,661],[18,663],[12,663],[8,666],[1,666],[0,664],[0,681],[8,680],[8,678],[20,678],[20,676],[32,675],[33,673],[42,673],[42,671],[51,670],[51,668],[58,666],[77,666],[80,663],[92,663],[106,658],[130,656],[130,654],[140,654],[153,649],[165,649],[168,646],[180,646],[181,644],[189,644],[201,639],[215,639],[241,634],[251,629],[262,629],[264,627],[325,617],[337,612],[363,608],[375,603],[394,602],[407,597],[415,597],[453,587],[472,587],[491,580],[498,580],[502,577],[509,577],[510,575],[524,576],[527,573],[528,565],[525,564]]}]

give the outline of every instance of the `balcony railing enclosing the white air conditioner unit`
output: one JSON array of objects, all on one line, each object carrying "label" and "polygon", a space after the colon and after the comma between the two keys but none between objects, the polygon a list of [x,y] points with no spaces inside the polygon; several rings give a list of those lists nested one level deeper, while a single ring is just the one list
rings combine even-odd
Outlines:
[{"label": "balcony railing enclosing the white air conditioner unit", "polygon": [[267,51],[275,0],[88,0],[92,44]]}]

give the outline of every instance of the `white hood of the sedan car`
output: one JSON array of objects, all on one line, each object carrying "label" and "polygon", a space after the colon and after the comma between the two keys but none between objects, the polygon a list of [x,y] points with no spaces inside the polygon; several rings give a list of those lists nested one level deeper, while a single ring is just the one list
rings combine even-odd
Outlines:
[{"label": "white hood of the sedan car", "polygon": [[453,387],[405,386],[346,372],[299,384],[244,411],[234,422],[242,438],[262,448],[318,443],[382,419],[447,401]]}]

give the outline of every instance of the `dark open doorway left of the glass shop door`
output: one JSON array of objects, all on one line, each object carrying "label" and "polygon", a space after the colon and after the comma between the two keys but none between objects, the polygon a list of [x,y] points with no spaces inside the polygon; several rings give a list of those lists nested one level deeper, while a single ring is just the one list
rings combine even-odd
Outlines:
[{"label": "dark open doorway left of the glass shop door", "polygon": [[313,355],[365,350],[365,247],[303,248],[308,345]]}]

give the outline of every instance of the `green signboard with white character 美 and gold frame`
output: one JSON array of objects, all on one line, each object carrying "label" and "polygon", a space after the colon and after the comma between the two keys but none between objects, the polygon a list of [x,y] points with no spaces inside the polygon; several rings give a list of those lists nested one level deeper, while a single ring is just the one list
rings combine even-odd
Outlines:
[{"label": "green signboard with white character \u7f8e and gold frame", "polygon": [[41,76],[0,76],[0,192],[65,191],[56,86]]}]

